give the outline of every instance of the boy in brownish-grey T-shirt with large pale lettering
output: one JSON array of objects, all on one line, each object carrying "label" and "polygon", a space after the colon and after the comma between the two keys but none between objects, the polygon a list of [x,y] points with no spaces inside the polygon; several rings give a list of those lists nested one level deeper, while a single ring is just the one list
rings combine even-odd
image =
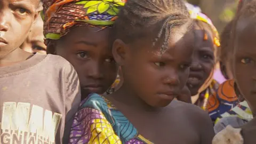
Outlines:
[{"label": "boy in brownish-grey T-shirt with large pale lettering", "polygon": [[0,1],[0,143],[67,143],[62,138],[81,102],[68,61],[19,48],[38,17],[38,4]]}]

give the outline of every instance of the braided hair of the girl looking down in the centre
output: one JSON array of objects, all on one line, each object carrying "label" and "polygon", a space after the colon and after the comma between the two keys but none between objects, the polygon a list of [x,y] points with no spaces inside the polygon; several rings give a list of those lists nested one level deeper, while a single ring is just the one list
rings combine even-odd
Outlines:
[{"label": "braided hair of the girl looking down in the centre", "polygon": [[[168,47],[172,29],[190,20],[182,0],[129,0],[118,15],[113,27],[114,39],[130,43],[137,37],[147,36],[146,32],[158,31],[153,46],[163,36],[162,54]],[[162,25],[160,29],[159,25]]]}]

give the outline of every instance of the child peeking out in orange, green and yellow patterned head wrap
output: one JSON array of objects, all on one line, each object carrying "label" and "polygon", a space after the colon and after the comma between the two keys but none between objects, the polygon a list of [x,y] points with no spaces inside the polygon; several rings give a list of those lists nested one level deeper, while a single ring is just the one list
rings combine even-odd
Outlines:
[{"label": "child peeking out in orange, green and yellow patterned head wrap", "polygon": [[43,10],[47,53],[74,66],[82,99],[92,92],[103,94],[117,76],[109,31],[124,1],[52,1],[45,0]]}]

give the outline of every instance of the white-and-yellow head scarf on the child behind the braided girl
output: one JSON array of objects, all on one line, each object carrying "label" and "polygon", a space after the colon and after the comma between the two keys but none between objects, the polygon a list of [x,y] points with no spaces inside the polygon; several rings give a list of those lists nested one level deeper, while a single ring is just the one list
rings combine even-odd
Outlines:
[{"label": "white-and-yellow head scarf on the child behind the braided girl", "polygon": [[[203,21],[207,23],[212,30],[213,33],[213,44],[217,47],[220,46],[219,41],[219,33],[217,29],[214,27],[212,21],[210,18],[208,18],[205,14],[201,12],[201,9],[198,6],[191,5],[189,3],[186,3],[187,9],[190,13],[190,18]],[[207,36],[207,35],[206,35]],[[205,36],[204,36],[205,39]],[[206,37],[207,39],[207,37]],[[214,46],[214,53],[216,53],[217,48]],[[198,90],[198,94],[194,95],[191,99],[192,102],[194,102],[195,105],[202,107],[204,110],[207,110],[207,105],[209,105],[209,97],[212,97],[215,93],[215,90],[218,89],[219,83],[213,79],[213,73],[214,73],[215,66],[213,67],[210,76],[206,79],[204,84],[200,87]]]}]

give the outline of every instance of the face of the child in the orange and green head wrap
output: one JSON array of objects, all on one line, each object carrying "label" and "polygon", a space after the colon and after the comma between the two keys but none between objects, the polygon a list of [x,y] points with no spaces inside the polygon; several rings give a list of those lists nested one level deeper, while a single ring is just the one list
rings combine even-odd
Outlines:
[{"label": "face of the child in the orange and green head wrap", "polygon": [[83,98],[89,93],[103,94],[115,81],[118,67],[111,53],[109,30],[98,27],[74,27],[47,49],[67,59],[76,69]]}]

